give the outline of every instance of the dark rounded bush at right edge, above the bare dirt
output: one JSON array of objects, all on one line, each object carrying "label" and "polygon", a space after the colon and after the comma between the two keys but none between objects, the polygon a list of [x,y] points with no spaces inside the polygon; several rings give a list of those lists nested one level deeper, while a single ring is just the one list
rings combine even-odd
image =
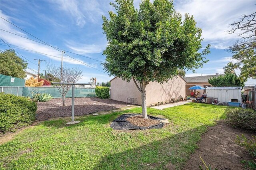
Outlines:
[{"label": "dark rounded bush at right edge, above the bare dirt", "polygon": [[256,131],[256,111],[253,109],[230,109],[226,115],[228,124],[233,127]]}]

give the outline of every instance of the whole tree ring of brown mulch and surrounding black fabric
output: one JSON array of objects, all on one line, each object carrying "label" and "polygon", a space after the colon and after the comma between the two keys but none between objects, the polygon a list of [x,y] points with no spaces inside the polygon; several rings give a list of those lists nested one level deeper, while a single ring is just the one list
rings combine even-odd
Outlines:
[{"label": "whole tree ring of brown mulch and surrounding black fabric", "polygon": [[111,124],[115,130],[145,130],[148,128],[162,128],[167,119],[148,115],[148,119],[142,118],[141,114],[123,114]]}]

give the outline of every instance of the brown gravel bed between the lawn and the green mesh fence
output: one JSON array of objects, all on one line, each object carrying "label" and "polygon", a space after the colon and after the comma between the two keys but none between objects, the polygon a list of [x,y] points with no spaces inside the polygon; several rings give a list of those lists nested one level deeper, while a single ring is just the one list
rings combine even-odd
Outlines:
[{"label": "brown gravel bed between the lawn and the green mesh fence", "polygon": [[[99,99],[97,97],[75,98],[75,116],[87,115],[98,111],[109,111],[132,104],[115,101],[111,99]],[[65,106],[62,106],[62,99],[52,99],[48,102],[37,103],[37,120],[46,120],[54,117],[65,117],[72,115],[72,98],[65,99]]]}]

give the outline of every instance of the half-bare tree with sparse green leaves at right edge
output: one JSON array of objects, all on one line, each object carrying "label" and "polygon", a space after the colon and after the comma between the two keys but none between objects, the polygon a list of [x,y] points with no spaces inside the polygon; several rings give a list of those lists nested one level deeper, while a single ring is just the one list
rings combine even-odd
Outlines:
[{"label": "half-bare tree with sparse green leaves at right edge", "polygon": [[239,39],[228,50],[240,61],[241,75],[256,79],[256,12],[242,16],[231,26],[229,33],[237,33]]}]

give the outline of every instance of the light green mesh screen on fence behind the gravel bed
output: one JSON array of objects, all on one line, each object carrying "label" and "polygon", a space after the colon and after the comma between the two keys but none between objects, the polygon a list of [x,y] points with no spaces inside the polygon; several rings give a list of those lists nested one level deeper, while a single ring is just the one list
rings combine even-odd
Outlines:
[{"label": "light green mesh screen on fence behind the gravel bed", "polygon": [[[33,93],[50,93],[53,98],[62,98],[57,87],[23,87],[23,96],[32,98]],[[72,97],[72,88],[65,97]],[[96,97],[96,94],[94,89],[75,87],[74,97]]]}]

